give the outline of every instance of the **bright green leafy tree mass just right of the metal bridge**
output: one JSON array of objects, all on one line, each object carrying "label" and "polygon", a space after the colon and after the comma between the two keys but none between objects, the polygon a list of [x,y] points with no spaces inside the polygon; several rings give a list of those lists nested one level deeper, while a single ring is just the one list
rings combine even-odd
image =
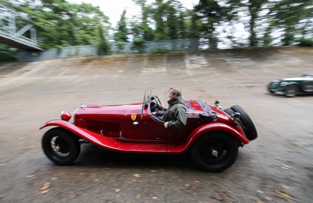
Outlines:
[{"label": "bright green leafy tree mass just right of the metal bridge", "polygon": [[99,7],[65,0],[12,2],[10,7],[37,26],[39,45],[45,49],[69,45],[104,46],[102,38],[108,36],[110,23]]}]

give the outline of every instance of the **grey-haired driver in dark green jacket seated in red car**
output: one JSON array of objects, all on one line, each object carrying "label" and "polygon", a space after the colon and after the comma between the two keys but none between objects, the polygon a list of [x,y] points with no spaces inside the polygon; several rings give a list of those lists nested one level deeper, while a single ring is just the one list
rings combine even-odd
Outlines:
[{"label": "grey-haired driver in dark green jacket seated in red car", "polygon": [[[162,113],[162,117],[159,119],[164,121],[164,127],[170,129],[183,128],[186,125],[187,117],[187,107],[184,100],[181,98],[181,90],[177,87],[171,87],[169,89],[168,97],[170,100],[167,101],[168,109]],[[158,114],[154,113],[154,114]]]}]

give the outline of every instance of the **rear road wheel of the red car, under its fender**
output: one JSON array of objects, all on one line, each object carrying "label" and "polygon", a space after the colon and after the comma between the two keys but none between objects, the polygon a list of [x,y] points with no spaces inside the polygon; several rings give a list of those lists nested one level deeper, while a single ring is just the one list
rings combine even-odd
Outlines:
[{"label": "rear road wheel of the red car, under its fender", "polygon": [[[217,156],[213,156],[213,150]],[[226,170],[238,157],[235,138],[225,132],[211,132],[202,135],[192,146],[191,156],[195,165],[206,172],[217,173]]]}]

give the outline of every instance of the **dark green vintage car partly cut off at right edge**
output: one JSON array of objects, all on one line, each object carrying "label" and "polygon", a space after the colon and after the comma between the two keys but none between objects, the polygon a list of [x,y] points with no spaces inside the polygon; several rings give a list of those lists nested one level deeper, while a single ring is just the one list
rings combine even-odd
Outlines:
[{"label": "dark green vintage car partly cut off at right edge", "polygon": [[271,80],[268,91],[270,93],[284,92],[287,97],[297,94],[313,94],[313,75],[305,74],[295,78]]}]

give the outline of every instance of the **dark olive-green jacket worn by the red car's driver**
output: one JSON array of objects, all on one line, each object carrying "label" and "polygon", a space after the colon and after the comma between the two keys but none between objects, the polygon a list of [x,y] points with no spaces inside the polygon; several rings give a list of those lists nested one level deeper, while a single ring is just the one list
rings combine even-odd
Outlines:
[{"label": "dark olive-green jacket worn by the red car's driver", "polygon": [[168,111],[160,117],[160,120],[168,122],[168,128],[177,129],[183,128],[187,123],[187,107],[185,101],[178,96],[167,101]]}]

